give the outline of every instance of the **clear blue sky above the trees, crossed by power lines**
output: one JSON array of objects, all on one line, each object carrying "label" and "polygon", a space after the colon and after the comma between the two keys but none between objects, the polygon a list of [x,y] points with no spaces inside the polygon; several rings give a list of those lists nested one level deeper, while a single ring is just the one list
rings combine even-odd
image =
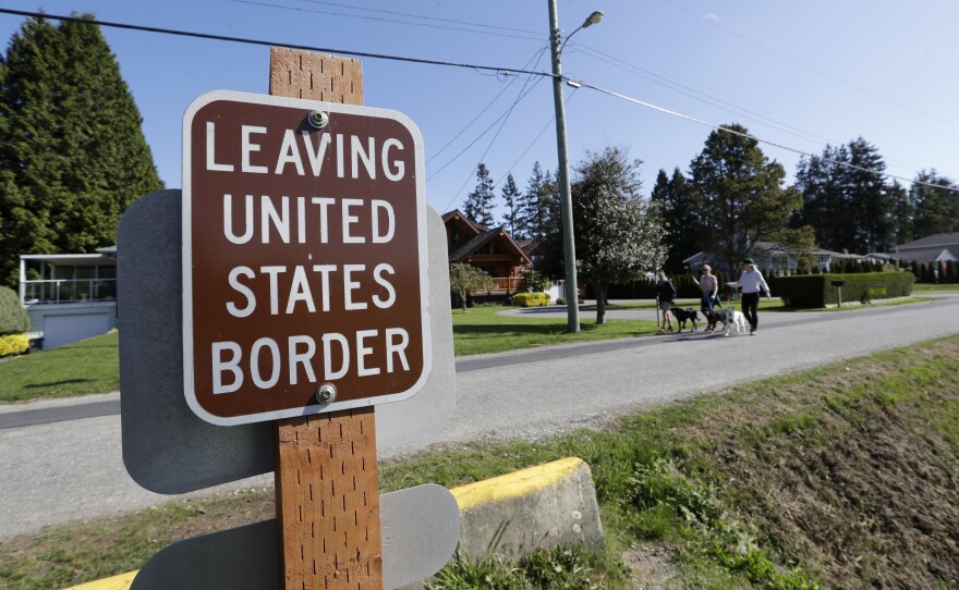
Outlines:
[{"label": "clear blue sky above the trees, crossed by power lines", "polygon": [[[549,70],[546,0],[0,0],[0,5]],[[738,122],[763,139],[802,151],[820,153],[827,143],[862,136],[878,147],[890,174],[911,179],[935,168],[959,177],[959,2],[559,0],[561,28],[572,32],[593,10],[603,10],[606,19],[567,46],[563,72],[571,77],[708,123]],[[9,41],[22,21],[0,15],[3,39]],[[104,34],[168,187],[181,186],[180,125],[193,99],[215,89],[267,93],[265,47],[110,28]],[[475,186],[480,161],[498,181],[497,194],[510,171],[523,188],[535,160],[556,168],[548,79],[375,59],[364,59],[363,67],[366,105],[401,111],[423,132],[427,198],[440,212],[462,204]],[[571,161],[607,145],[627,147],[644,161],[645,194],[660,168],[685,171],[711,131],[587,88],[566,91]],[[791,177],[799,156],[763,149]]]}]

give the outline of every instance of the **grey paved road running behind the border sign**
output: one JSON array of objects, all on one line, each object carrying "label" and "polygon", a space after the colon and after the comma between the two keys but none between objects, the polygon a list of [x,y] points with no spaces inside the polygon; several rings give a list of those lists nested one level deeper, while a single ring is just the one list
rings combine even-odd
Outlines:
[{"label": "grey paved road running behind the border sign", "polygon": [[[417,447],[483,437],[537,438],[733,383],[945,336],[957,327],[959,297],[950,296],[849,312],[762,314],[755,337],[684,333],[468,357],[457,361],[453,419]],[[118,394],[0,407],[0,539],[169,500],[142,490],[126,475],[118,407]],[[271,477],[260,477],[218,491],[271,483]]]}]

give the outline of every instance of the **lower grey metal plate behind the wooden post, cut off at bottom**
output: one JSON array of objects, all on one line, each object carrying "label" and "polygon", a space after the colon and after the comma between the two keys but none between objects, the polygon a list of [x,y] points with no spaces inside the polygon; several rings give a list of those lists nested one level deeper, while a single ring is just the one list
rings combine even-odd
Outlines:
[{"label": "lower grey metal plate behind the wooden post, cut off at bottom", "polygon": [[[446,565],[460,536],[460,511],[446,488],[417,485],[379,497],[383,587],[424,580]],[[131,590],[274,590],[280,587],[276,520],[173,543],[154,555]]]}]

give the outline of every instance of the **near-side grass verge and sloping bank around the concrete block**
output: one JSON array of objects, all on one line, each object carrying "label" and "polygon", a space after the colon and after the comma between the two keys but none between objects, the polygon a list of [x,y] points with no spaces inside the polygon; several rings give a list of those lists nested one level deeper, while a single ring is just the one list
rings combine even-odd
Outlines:
[{"label": "near-side grass verge and sloping bank around the concrete block", "polygon": [[[954,336],[639,411],[602,431],[450,446],[383,464],[380,485],[451,488],[570,455],[591,465],[605,551],[460,560],[437,589],[959,588],[957,359]],[[4,541],[0,588],[123,573],[177,539],[267,518],[271,504],[266,492],[174,502]]]}]

